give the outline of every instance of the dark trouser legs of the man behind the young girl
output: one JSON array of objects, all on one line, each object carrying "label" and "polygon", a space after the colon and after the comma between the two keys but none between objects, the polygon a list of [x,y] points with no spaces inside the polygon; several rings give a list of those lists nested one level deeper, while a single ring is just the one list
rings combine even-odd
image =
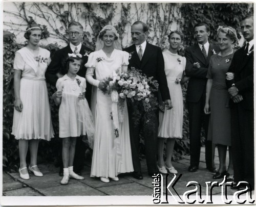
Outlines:
[{"label": "dark trouser legs of the man behind the young girl", "polygon": [[[62,142],[61,142],[61,152],[62,152]],[[82,141],[82,136],[76,139],[76,151],[73,163],[74,172],[81,171],[83,169],[83,164],[86,156],[86,145]],[[59,171],[63,172],[63,162],[62,162],[62,153],[60,153],[59,157]]]}]

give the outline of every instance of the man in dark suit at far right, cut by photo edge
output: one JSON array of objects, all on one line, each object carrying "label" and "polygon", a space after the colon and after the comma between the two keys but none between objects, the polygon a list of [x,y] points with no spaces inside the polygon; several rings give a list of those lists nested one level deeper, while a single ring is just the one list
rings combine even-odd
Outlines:
[{"label": "man in dark suit at far right, cut by photo edge", "polygon": [[253,17],[240,23],[246,45],[234,53],[228,72],[234,79],[227,81],[231,107],[231,145],[234,169],[234,188],[240,181],[254,189],[253,136]]}]

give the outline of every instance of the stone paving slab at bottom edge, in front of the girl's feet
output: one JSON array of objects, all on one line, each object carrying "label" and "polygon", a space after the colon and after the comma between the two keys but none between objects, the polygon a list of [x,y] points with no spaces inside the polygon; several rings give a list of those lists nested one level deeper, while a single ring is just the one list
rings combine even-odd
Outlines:
[{"label": "stone paving slab at bottom edge, in front of the girl's feet", "polygon": [[68,184],[65,186],[53,186],[50,188],[40,189],[40,192],[46,196],[101,196],[105,193],[84,185],[80,182],[75,184]]}]

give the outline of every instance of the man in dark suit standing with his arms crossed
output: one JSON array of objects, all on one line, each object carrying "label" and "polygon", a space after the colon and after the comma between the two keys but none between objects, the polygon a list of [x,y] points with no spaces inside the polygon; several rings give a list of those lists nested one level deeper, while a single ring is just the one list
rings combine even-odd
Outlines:
[{"label": "man in dark suit standing with his arms crossed", "polygon": [[206,74],[209,60],[216,54],[219,47],[208,42],[210,28],[206,23],[199,23],[194,27],[198,43],[190,46],[185,51],[187,60],[185,73],[190,77],[187,86],[187,106],[189,117],[189,139],[190,139],[190,166],[189,172],[198,170],[201,149],[201,128],[205,132],[205,160],[206,168],[210,172],[217,172],[214,165],[215,145],[207,140],[209,115],[204,114]]}]

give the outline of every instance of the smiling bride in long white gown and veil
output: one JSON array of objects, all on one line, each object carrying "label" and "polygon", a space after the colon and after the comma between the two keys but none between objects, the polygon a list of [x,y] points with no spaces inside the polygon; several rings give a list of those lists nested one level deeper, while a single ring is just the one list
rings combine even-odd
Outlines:
[{"label": "smiling bride in long white gown and veil", "polygon": [[[106,25],[99,33],[96,51],[89,55],[86,64],[86,79],[97,87],[92,94],[92,113],[95,116],[95,135],[91,177],[100,177],[104,183],[118,181],[118,174],[132,172],[133,162],[130,144],[127,107],[119,119],[119,137],[114,133],[111,120],[111,95],[103,94],[102,81],[116,70],[127,71],[129,53],[121,50],[119,35],[111,25]],[[94,73],[96,76],[94,76]],[[124,101],[125,102],[125,101]],[[120,112],[118,112],[120,113]]]}]

